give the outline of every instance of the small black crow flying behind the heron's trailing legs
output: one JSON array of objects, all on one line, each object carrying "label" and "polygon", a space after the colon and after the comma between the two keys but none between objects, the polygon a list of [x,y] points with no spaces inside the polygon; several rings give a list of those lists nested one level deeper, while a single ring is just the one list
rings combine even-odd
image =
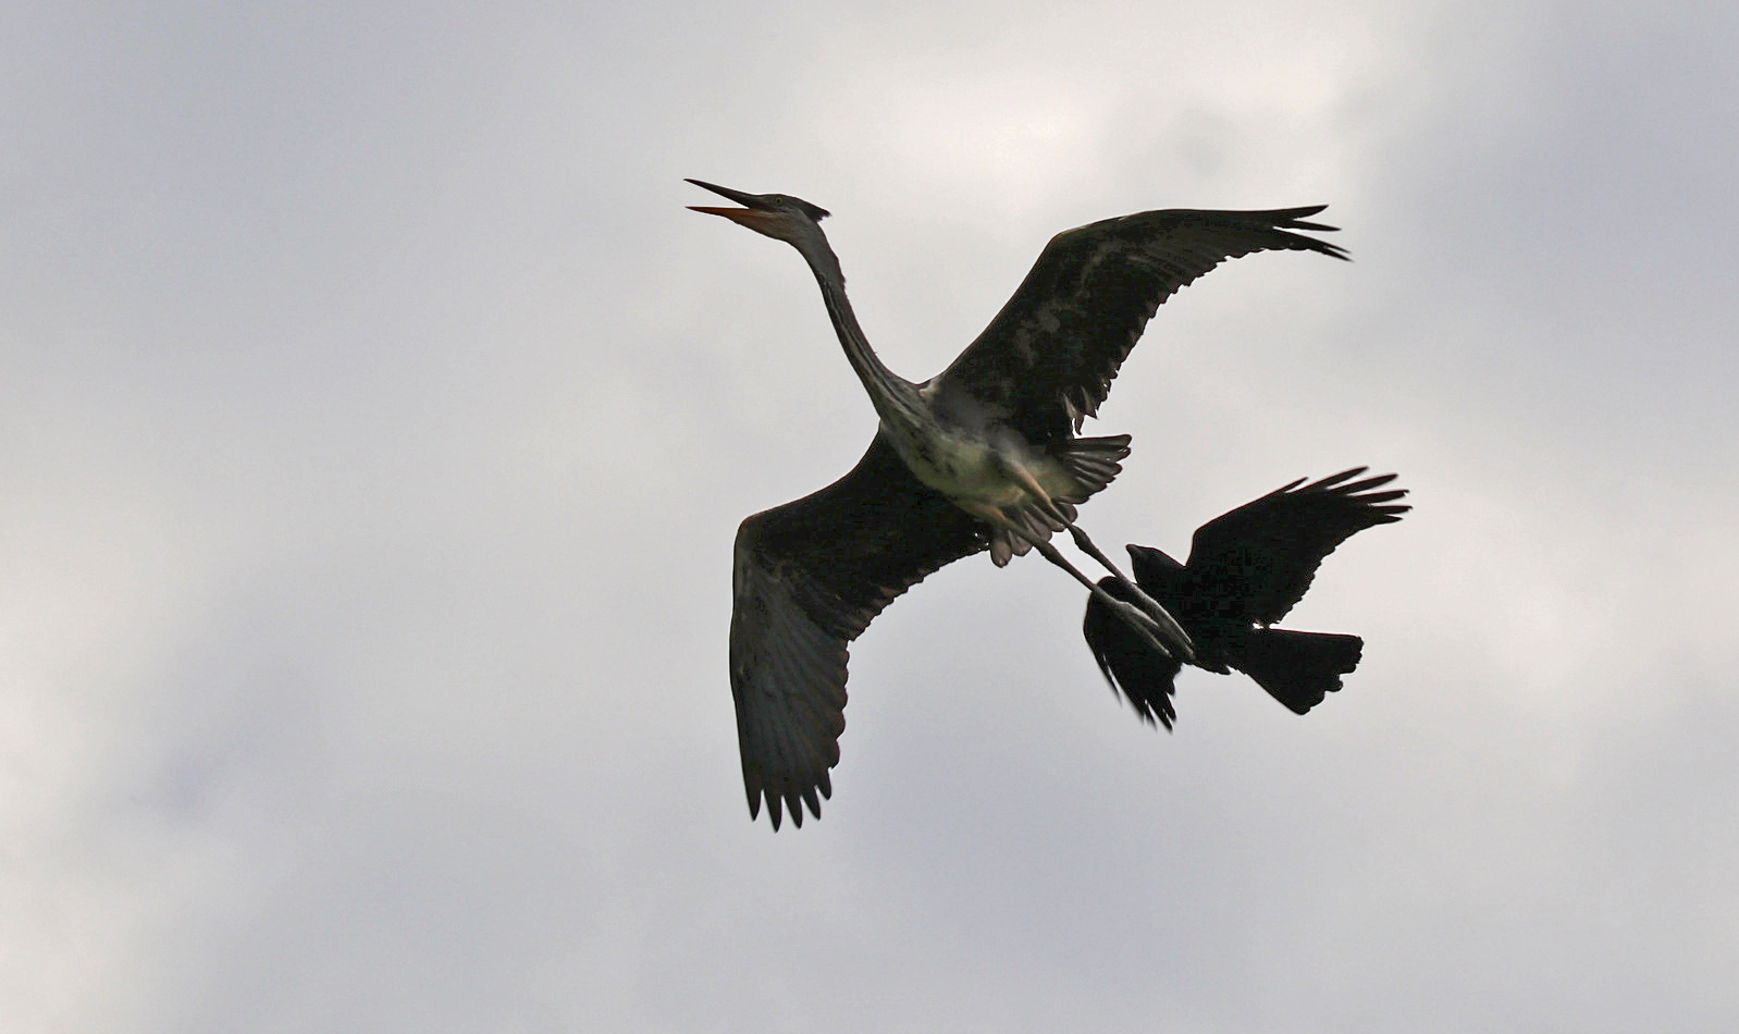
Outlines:
[{"label": "small black crow flying behind the heron's trailing legs", "polygon": [[[1362,473],[1365,468],[1355,467],[1311,484],[1301,477],[1221,514],[1196,529],[1184,564],[1156,548],[1129,547],[1136,583],[1189,632],[1191,665],[1221,675],[1236,668],[1294,714],[1306,714],[1341,688],[1341,675],[1358,667],[1365,649],[1358,635],[1269,625],[1304,597],[1316,567],[1337,545],[1367,527],[1393,524],[1412,508],[1396,503],[1407,489],[1384,489],[1393,473],[1353,480]],[[1115,578],[1099,587],[1113,597],[1127,594]],[[1172,679],[1183,661],[1130,635],[1096,597],[1087,601],[1082,632],[1111,691],[1129,700],[1144,722],[1156,719],[1170,729],[1177,717]]]}]

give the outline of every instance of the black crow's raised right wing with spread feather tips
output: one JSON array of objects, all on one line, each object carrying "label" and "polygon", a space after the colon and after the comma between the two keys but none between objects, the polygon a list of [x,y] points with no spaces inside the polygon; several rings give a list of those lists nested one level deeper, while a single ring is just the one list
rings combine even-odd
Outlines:
[{"label": "black crow's raised right wing with spread feather tips", "polygon": [[1186,564],[1193,592],[1216,601],[1224,620],[1283,618],[1337,545],[1412,508],[1395,501],[1407,489],[1376,491],[1393,473],[1351,480],[1363,472],[1355,467],[1304,487],[1301,477],[1198,527]]}]

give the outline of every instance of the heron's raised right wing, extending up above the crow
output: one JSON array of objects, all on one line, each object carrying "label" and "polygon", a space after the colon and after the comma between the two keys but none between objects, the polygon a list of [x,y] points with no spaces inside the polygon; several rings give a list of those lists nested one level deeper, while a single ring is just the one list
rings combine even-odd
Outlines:
[{"label": "heron's raised right wing, extending up above the crow", "polygon": [[937,378],[991,407],[1031,442],[1080,430],[1160,303],[1229,258],[1256,251],[1346,252],[1292,230],[1327,205],[1268,212],[1167,209],[1064,230],[996,319]]}]

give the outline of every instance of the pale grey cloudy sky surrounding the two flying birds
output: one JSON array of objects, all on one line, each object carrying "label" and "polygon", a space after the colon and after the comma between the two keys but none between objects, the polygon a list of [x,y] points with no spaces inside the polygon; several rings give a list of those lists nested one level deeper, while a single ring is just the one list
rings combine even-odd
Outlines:
[{"label": "pale grey cloudy sky surrounding the two flying birds", "polygon": [[[1727,2],[66,3],[0,31],[9,1031],[1730,1031]],[[1045,238],[1332,202],[1174,298],[1083,519],[1396,470],[1306,719],[1141,726],[1036,561],[857,642],[743,802],[737,520]]]}]

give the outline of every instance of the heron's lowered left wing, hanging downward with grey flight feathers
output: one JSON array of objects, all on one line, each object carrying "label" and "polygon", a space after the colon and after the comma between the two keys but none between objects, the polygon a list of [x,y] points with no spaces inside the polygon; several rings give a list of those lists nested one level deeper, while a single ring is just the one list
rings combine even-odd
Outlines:
[{"label": "heron's lowered left wing, hanging downward with grey flight feathers", "polygon": [[730,693],[750,815],[765,796],[821,816],[845,729],[847,644],[894,597],[989,545],[988,527],[925,487],[878,433],[857,467],[737,529]]}]

